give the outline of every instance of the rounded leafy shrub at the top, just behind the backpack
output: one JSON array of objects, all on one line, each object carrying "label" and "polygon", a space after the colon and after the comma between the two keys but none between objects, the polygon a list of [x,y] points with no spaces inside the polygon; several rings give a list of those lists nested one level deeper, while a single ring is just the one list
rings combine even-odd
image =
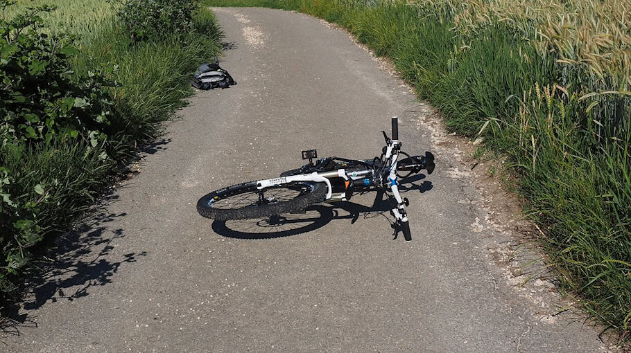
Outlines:
[{"label": "rounded leafy shrub at the top, just behind the backpack", "polygon": [[116,12],[133,42],[187,34],[193,28],[196,0],[122,0]]}]

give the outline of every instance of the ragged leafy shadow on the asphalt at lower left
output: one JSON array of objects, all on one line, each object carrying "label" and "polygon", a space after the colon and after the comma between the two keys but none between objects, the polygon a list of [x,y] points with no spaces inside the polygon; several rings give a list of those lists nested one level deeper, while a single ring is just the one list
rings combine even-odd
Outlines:
[{"label": "ragged leafy shadow on the asphalt at lower left", "polygon": [[31,310],[39,309],[46,302],[77,300],[89,295],[92,287],[112,282],[114,273],[123,264],[136,262],[139,253],[114,255],[116,239],[124,236],[123,229],[110,227],[115,219],[126,213],[103,212],[105,198],[96,216],[54,242],[46,251],[46,260],[38,262],[23,285],[24,302],[21,305],[5,304],[0,320],[0,340],[8,336],[19,336],[20,327],[37,327]]}]

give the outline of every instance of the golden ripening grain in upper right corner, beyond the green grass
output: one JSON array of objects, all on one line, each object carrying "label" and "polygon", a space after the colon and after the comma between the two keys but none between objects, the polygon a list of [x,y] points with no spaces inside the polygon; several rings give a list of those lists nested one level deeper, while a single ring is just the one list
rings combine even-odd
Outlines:
[{"label": "golden ripening grain in upper right corner, beyond the green grass", "polygon": [[631,0],[408,3],[421,17],[453,21],[462,48],[490,26],[527,39],[535,55],[555,60],[554,83],[587,100],[593,118],[603,125],[601,137],[615,136],[625,128],[625,111],[631,108]]}]

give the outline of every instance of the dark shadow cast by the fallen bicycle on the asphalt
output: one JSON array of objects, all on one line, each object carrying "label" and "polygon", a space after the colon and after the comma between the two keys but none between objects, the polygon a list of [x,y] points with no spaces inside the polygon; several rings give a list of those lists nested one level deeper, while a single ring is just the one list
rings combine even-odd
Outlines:
[{"label": "dark shadow cast by the fallen bicycle on the asphalt", "polygon": [[[431,190],[430,181],[417,184],[415,181],[424,179],[420,174],[413,178],[403,179],[399,183],[401,194],[418,191],[420,193]],[[374,192],[374,191],[371,191]],[[361,192],[359,195],[368,192]],[[245,219],[239,221],[213,221],[212,229],[218,235],[236,239],[274,239],[308,233],[322,228],[334,220],[349,219],[355,224],[360,217],[370,219],[383,217],[394,229],[395,238],[398,230],[395,228],[394,217],[390,210],[394,205],[383,191],[377,191],[371,206],[361,205],[352,201],[337,201],[309,206],[303,212],[286,213],[260,219]]]}]

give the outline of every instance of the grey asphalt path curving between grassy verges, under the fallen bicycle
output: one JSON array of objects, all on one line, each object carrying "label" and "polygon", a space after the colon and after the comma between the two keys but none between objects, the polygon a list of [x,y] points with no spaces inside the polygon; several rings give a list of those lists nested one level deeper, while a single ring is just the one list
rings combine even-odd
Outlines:
[{"label": "grey asphalt path curving between grassy verges, under the fallen bicycle", "polygon": [[221,65],[239,84],[191,98],[140,172],[60,242],[0,350],[600,350],[593,329],[548,315],[536,287],[526,296],[503,278],[489,248],[506,235],[485,226],[453,155],[437,154],[436,171],[408,183],[409,243],[392,239],[374,194],[276,227],[200,217],[203,194],[277,177],[302,165],[301,150],[379,155],[390,116],[412,154],[431,150],[433,136],[424,105],[343,30],[279,10],[216,15]]}]

